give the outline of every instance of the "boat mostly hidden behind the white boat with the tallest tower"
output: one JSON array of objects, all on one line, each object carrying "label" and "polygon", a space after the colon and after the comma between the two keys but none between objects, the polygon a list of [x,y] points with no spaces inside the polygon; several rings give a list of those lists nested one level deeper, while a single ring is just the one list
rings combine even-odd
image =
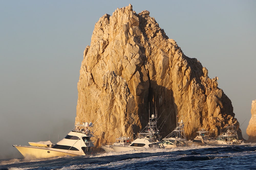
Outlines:
[{"label": "boat mostly hidden behind the white boat with the tallest tower", "polygon": [[122,136],[119,138],[116,138],[116,142],[114,143],[106,143],[101,146],[102,149],[105,150],[105,152],[114,152],[114,149],[111,147],[111,145],[116,146],[124,146],[124,145],[130,145],[131,144],[131,137]]}]

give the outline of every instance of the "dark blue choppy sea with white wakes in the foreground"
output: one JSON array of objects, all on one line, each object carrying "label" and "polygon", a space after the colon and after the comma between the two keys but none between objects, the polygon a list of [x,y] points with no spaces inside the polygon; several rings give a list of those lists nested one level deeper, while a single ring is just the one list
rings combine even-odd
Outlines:
[{"label": "dark blue choppy sea with white wakes in the foreground", "polygon": [[0,160],[0,169],[256,169],[256,144],[191,146],[50,160]]}]

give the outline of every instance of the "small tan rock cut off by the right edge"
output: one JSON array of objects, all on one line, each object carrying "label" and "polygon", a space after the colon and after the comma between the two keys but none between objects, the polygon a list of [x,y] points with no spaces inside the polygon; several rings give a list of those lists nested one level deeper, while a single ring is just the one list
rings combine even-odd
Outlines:
[{"label": "small tan rock cut off by the right edge", "polygon": [[251,109],[252,117],[249,121],[249,125],[246,129],[246,133],[249,136],[247,142],[256,142],[256,100],[252,101],[252,109]]}]

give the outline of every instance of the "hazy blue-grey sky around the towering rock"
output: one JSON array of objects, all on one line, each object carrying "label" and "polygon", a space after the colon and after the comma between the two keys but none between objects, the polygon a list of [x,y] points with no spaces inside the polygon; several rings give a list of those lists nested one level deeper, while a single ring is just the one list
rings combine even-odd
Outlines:
[{"label": "hazy blue-grey sky around the towering rock", "polygon": [[184,54],[219,77],[243,137],[256,99],[256,1],[1,1],[0,159],[13,144],[62,139],[74,127],[83,51],[116,8],[148,10]]}]

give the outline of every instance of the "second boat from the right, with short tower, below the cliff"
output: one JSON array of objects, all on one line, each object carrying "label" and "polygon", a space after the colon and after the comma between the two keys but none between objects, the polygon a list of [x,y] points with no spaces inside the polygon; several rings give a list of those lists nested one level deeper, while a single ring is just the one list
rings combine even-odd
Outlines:
[{"label": "second boat from the right, with short tower, below the cliff", "polygon": [[195,145],[215,145],[215,139],[211,138],[208,133],[209,131],[205,129],[199,129],[197,131],[198,135],[193,139],[187,141],[188,145],[191,146],[193,144]]}]

